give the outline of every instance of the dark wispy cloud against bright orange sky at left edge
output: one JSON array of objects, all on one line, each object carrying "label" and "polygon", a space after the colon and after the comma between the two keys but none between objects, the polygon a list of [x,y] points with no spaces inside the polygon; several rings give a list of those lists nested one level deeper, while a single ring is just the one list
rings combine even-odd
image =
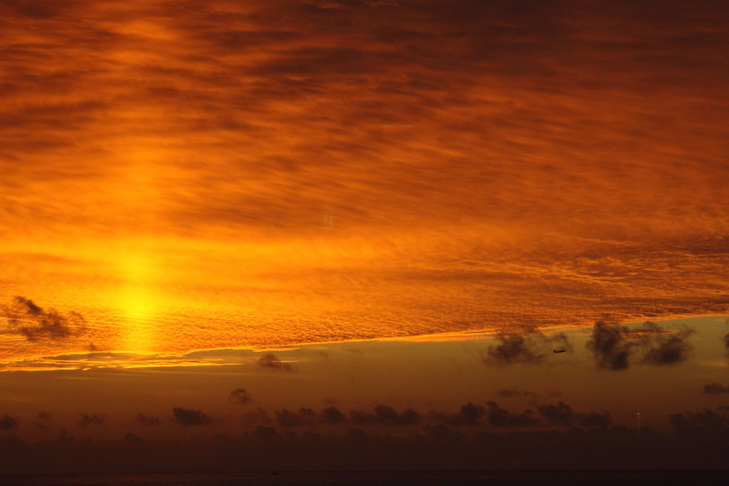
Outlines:
[{"label": "dark wispy cloud against bright orange sky at left edge", "polygon": [[0,313],[7,317],[11,331],[20,333],[28,341],[58,341],[83,333],[86,327],[84,317],[78,312],[62,315],[55,309],[44,310],[23,296],[15,296],[11,304],[0,306]]}]

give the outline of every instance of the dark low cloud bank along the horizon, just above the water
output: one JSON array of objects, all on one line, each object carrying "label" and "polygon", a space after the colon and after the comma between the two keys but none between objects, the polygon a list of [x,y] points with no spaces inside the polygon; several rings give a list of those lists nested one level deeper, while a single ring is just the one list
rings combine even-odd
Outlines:
[{"label": "dark low cloud bank along the horizon, just above the water", "polygon": [[[78,440],[64,431],[58,439],[37,443],[25,443],[9,432],[0,434],[0,470],[5,474],[59,474],[516,468],[542,470],[539,474],[543,475],[546,469],[576,468],[725,469],[729,455],[729,412],[725,408],[671,415],[670,432],[647,427],[639,432],[616,425],[465,435],[448,425],[426,425],[397,435],[368,433],[361,428],[350,428],[343,435],[323,435],[279,432],[257,425],[238,436],[189,441],[149,440],[138,433],[126,433],[119,441]],[[483,417],[496,409],[491,404],[483,407]],[[579,419],[564,404],[542,412],[560,423]],[[696,471],[692,474],[695,478]]]}]

